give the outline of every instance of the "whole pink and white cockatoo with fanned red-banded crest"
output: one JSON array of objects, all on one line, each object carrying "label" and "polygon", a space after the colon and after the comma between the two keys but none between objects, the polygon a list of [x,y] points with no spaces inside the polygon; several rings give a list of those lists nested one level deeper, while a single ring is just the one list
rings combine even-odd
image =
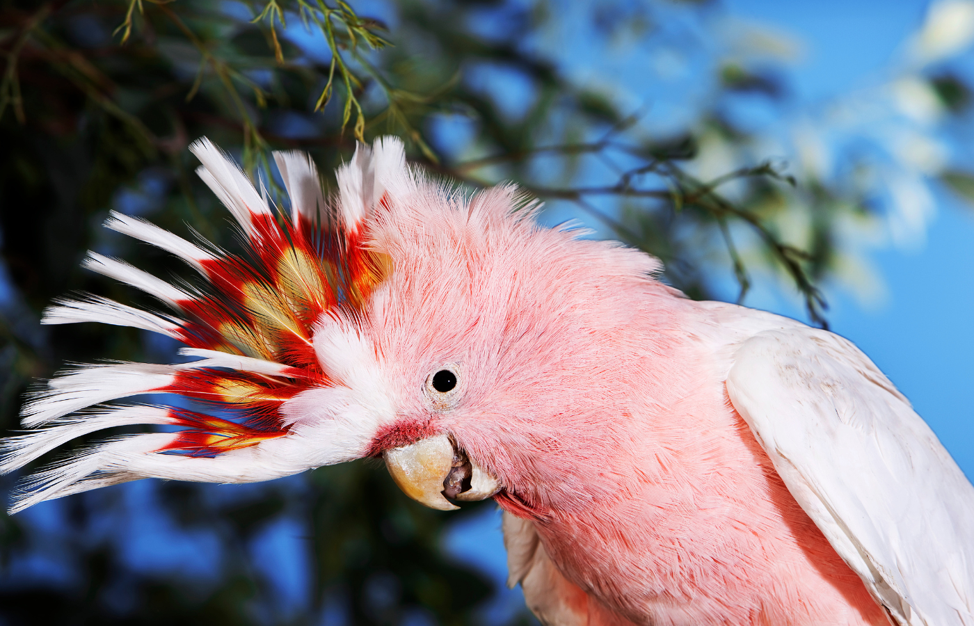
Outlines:
[{"label": "whole pink and white cockatoo with fanned red-banded crest", "polygon": [[[53,379],[0,469],[111,426],[181,430],[83,450],[12,511],[384,458],[433,508],[494,498],[509,583],[543,624],[974,625],[974,488],[842,337],[693,302],[649,255],[543,228],[511,185],[468,198],[394,138],[359,145],[330,199],[308,156],[277,153],[289,215],[205,138],[192,150],[246,253],[113,213],[203,279],[93,252],[171,312],[89,295],[44,322],[155,331],[198,360]],[[194,402],[104,404],[144,393]]]}]

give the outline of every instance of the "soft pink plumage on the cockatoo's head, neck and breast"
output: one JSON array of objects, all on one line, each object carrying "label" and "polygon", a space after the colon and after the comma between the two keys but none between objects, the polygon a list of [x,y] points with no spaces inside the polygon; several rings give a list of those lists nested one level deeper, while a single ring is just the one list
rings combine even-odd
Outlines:
[{"label": "soft pink plumage on the cockatoo's head, neck and breast", "polygon": [[406,199],[426,210],[380,221],[396,272],[365,328],[405,377],[393,386],[465,364],[463,405],[430,431],[634,623],[885,624],[731,407],[713,341],[727,329],[648,279],[646,255],[508,215],[511,193],[445,214]]}]

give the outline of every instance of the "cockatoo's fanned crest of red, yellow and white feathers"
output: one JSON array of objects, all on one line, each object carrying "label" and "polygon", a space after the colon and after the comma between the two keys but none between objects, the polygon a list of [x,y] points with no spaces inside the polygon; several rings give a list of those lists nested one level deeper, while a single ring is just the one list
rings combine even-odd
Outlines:
[{"label": "cockatoo's fanned crest of red, yellow and white feathers", "polygon": [[[397,140],[378,141],[375,154],[359,146],[352,163],[339,169],[341,197],[332,203],[325,202],[317,168],[307,155],[277,153],[290,215],[273,211],[244,172],[206,138],[191,150],[203,163],[198,173],[244,231],[244,255],[212,245],[204,249],[113,212],[108,228],[179,256],[206,278],[204,284],[191,292],[92,253],[86,261],[89,269],[156,296],[176,314],[148,313],[87,296],[59,301],[43,321],[145,328],[182,342],[188,347],[183,353],[205,358],[181,365],[91,365],[50,381],[26,405],[23,419],[26,426],[47,427],[6,440],[0,471],[17,469],[73,437],[111,425],[166,423],[184,429],[130,436],[57,465],[34,477],[12,510],[145,476],[229,482],[274,477],[236,466],[243,460],[239,451],[289,434],[281,404],[310,387],[329,386],[313,346],[318,320],[324,313],[360,309],[392,271],[388,257],[370,249],[365,217],[384,200],[383,175],[393,170],[411,175]],[[175,393],[195,400],[207,413],[122,406],[71,416],[141,393]],[[146,448],[150,440],[159,445]],[[260,454],[278,454],[265,448]],[[227,462],[211,463],[202,475],[187,478],[186,462],[173,462],[173,455],[183,461]],[[284,475],[304,468],[281,460],[268,471]]]}]

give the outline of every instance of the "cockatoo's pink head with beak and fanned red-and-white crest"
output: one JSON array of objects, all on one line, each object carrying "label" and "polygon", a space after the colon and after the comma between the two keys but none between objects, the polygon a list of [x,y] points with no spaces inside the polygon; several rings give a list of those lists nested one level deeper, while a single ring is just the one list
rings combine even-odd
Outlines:
[{"label": "cockatoo's pink head with beak and fanned red-and-white crest", "polygon": [[[435,183],[393,138],[360,145],[331,199],[307,156],[277,154],[289,215],[206,139],[193,149],[246,253],[113,214],[109,228],[204,280],[177,287],[92,253],[90,269],[172,313],[86,296],[44,321],[148,329],[201,358],[87,365],[51,380],[24,409],[31,429],[4,441],[0,470],[102,428],[179,429],[112,439],[35,474],[13,510],[144,477],[250,482],[364,457],[384,458],[403,492],[439,509],[499,497],[541,515],[618,489],[601,455],[627,435],[606,416],[626,413],[627,373],[648,366],[647,347],[625,332],[645,312],[624,294],[665,289],[648,279],[654,259],[540,227],[512,186],[468,198]],[[183,399],[104,404],[143,393]]]}]

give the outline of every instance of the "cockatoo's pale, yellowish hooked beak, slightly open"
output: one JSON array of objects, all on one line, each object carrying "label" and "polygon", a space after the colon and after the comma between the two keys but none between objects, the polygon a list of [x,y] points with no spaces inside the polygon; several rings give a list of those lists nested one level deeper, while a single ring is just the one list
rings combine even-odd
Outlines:
[{"label": "cockatoo's pale, yellowish hooked beak, slightly open", "polygon": [[481,500],[501,490],[497,478],[469,460],[445,434],[393,448],[383,456],[399,489],[430,508],[451,511],[460,508],[451,499]]}]

